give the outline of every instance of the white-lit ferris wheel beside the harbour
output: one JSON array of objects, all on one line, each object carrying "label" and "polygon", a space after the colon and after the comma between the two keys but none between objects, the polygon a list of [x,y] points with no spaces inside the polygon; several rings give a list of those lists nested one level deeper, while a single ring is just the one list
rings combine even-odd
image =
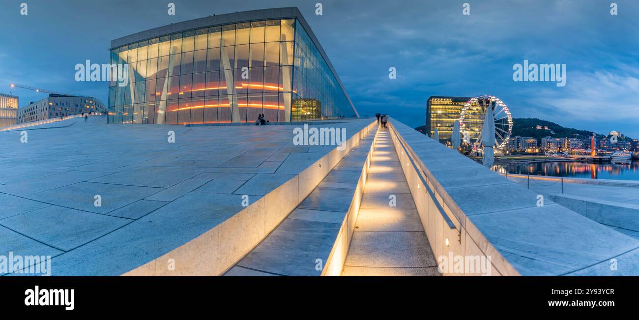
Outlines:
[{"label": "white-lit ferris wheel beside the harbour", "polygon": [[[491,112],[487,110],[490,108]],[[486,114],[495,119],[495,149],[504,149],[512,133],[512,116],[508,106],[495,96],[477,96],[466,102],[459,115],[459,127],[463,139],[472,144],[473,151],[484,149],[481,132]]]}]

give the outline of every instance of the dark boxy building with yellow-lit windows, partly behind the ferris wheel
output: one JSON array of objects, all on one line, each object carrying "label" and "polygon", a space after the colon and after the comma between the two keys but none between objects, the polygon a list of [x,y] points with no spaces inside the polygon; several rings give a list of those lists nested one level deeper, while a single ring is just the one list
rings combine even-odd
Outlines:
[{"label": "dark boxy building with yellow-lit windows, partly behind the ferris wheel", "polygon": [[426,103],[426,132],[433,137],[437,128],[440,142],[450,144],[455,121],[459,120],[461,109],[471,98],[460,96],[431,96]]}]

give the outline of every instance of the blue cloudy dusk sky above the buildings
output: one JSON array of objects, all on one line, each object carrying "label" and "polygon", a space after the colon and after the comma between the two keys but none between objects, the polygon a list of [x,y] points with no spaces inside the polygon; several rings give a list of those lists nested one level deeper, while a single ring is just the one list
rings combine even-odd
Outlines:
[{"label": "blue cloudy dusk sky above the buildings", "polygon": [[[20,15],[20,3],[28,15]],[[167,3],[176,15],[167,15]],[[315,4],[323,15],[315,15]],[[463,3],[470,15],[463,15]],[[235,11],[297,6],[362,116],[424,124],[431,95],[495,95],[514,117],[639,137],[639,1],[125,0],[0,2],[0,92],[15,82],[107,103],[105,82],[75,82],[74,66],[107,63],[112,39]],[[566,64],[566,86],[514,82],[516,63]],[[397,79],[389,79],[389,68]],[[12,89],[20,106],[45,97]]]}]

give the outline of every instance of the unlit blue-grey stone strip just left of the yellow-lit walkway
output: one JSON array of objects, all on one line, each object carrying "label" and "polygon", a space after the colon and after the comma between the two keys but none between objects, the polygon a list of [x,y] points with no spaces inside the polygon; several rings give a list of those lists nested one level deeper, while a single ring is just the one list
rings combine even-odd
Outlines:
[{"label": "unlit blue-grey stone strip just left of the yellow-lit walkway", "polygon": [[355,197],[375,133],[376,129],[371,130],[271,234],[224,275],[321,275]]}]

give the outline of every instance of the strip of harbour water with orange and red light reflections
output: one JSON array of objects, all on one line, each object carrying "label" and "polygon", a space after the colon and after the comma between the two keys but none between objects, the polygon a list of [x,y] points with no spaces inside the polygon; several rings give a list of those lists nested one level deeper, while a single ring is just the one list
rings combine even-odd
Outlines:
[{"label": "strip of harbour water with orange and red light reflections", "polygon": [[493,166],[493,170],[539,176],[639,180],[639,160],[634,160],[630,164],[588,164],[585,162],[503,164]]}]

